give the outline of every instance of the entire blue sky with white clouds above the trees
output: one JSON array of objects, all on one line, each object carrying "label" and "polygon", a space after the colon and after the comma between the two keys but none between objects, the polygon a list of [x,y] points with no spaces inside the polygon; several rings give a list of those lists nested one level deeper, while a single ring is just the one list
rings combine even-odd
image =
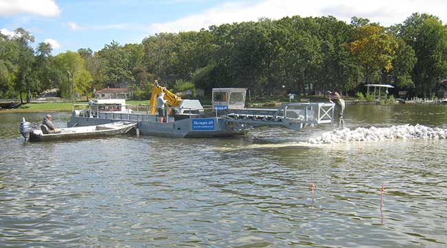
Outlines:
[{"label": "entire blue sky with white clouds above the trees", "polygon": [[209,25],[261,17],[332,15],[349,22],[364,17],[382,25],[402,23],[413,12],[435,14],[446,23],[444,0],[0,0],[0,32],[31,32],[51,43],[53,54],[79,48],[100,50],[112,40],[141,43],[157,32],[200,30]]}]

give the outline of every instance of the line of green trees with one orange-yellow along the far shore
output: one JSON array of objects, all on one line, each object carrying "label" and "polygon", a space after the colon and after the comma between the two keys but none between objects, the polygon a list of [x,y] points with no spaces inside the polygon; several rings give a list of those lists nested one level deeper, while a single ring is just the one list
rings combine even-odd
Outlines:
[{"label": "line of green trees with one orange-yellow along the far shore", "polygon": [[69,98],[67,71],[80,95],[125,85],[136,99],[148,99],[155,80],[174,90],[248,87],[259,95],[364,92],[365,83],[389,83],[426,97],[447,78],[447,26],[419,13],[391,27],[358,17],[259,19],[56,56],[51,45],[32,43],[22,28],[0,34],[0,98],[29,101],[52,87]]}]

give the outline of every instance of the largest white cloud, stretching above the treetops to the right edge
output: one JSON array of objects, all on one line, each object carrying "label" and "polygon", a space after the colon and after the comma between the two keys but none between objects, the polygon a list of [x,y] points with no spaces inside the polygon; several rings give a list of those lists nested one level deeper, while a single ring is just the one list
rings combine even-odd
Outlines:
[{"label": "largest white cloud, stretching above the treetops to the right edge", "polygon": [[281,19],[282,17],[334,16],[342,21],[351,17],[368,18],[382,25],[402,23],[414,12],[426,12],[447,21],[447,1],[443,0],[263,0],[223,3],[205,12],[193,14],[168,23],[153,23],[151,32],[179,32],[200,30],[210,25],[242,21],[257,21],[261,17]]}]

